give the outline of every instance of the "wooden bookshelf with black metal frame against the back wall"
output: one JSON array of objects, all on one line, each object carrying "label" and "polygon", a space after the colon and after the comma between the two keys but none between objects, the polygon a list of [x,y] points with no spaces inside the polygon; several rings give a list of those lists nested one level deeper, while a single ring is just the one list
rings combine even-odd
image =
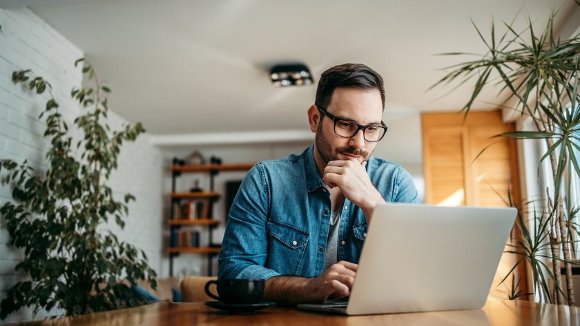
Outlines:
[{"label": "wooden bookshelf with black metal frame against the back wall", "polygon": [[[213,243],[213,229],[220,225],[220,221],[213,219],[213,204],[222,196],[213,190],[213,178],[220,172],[248,171],[252,166],[254,163],[169,166],[171,193],[168,197],[171,208],[167,224],[170,229],[170,240],[166,251],[169,254],[170,276],[173,276],[173,260],[184,253],[206,255],[208,258],[207,275],[213,276],[213,258],[220,253],[219,245]],[[176,180],[182,173],[209,173],[209,191],[177,191]],[[207,232],[209,235],[208,243],[199,243],[200,231],[189,231],[188,227],[191,226],[202,227],[202,232]]]}]

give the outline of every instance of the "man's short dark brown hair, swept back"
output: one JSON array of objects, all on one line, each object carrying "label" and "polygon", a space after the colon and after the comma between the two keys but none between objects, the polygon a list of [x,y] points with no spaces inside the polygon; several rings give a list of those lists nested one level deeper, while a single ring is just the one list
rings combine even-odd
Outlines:
[{"label": "man's short dark brown hair, swept back", "polygon": [[364,64],[341,64],[322,73],[318,81],[318,88],[316,88],[314,104],[326,109],[330,104],[334,90],[338,87],[376,89],[380,93],[380,99],[383,100],[383,110],[385,110],[383,77]]}]

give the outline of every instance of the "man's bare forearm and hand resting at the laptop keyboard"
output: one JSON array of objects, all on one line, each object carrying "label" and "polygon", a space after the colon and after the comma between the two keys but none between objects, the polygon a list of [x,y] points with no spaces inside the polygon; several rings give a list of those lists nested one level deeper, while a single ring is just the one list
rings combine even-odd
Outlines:
[{"label": "man's bare forearm and hand resting at the laptop keyboard", "polygon": [[341,260],[316,278],[275,276],[266,281],[264,300],[282,305],[322,303],[350,295],[358,265]]}]

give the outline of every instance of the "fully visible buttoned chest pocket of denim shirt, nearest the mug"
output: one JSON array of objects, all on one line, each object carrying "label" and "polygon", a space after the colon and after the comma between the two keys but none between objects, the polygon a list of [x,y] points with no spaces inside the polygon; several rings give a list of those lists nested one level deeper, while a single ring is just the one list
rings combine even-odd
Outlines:
[{"label": "fully visible buttoned chest pocket of denim shirt, nearest the mug", "polygon": [[297,275],[308,244],[309,233],[293,225],[269,220],[268,268],[282,275]]}]

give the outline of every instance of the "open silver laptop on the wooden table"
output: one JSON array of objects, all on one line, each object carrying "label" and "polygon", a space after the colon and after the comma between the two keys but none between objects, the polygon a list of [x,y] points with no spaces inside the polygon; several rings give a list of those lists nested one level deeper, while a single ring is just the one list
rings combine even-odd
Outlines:
[{"label": "open silver laptop on the wooden table", "polygon": [[298,308],[347,315],[479,309],[515,218],[514,208],[381,204],[348,302]]}]

